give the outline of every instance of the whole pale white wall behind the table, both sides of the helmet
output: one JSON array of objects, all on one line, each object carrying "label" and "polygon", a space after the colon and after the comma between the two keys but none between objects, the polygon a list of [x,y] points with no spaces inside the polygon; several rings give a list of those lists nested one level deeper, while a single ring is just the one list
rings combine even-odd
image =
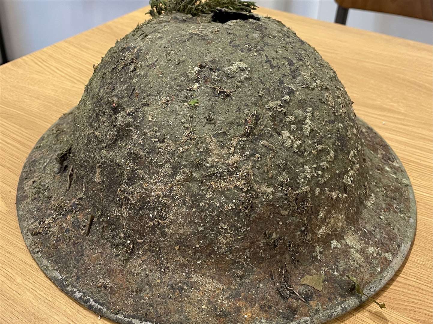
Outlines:
[{"label": "whole pale white wall behind the table, both sides of the helmet", "polygon": [[[257,0],[257,5],[332,22],[334,0]],[[149,0],[0,0],[0,23],[9,60],[105,23]],[[433,23],[349,10],[347,25],[433,44]]]}]

